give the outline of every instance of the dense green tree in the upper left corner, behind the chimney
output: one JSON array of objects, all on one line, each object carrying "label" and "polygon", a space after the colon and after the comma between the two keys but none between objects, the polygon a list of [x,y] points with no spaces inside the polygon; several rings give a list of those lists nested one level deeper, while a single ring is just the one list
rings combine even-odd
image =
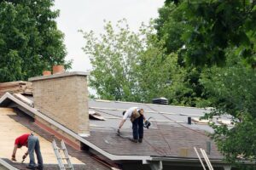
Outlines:
[{"label": "dense green tree in the upper left corner, behind the chimney", "polygon": [[53,0],[0,1],[0,82],[26,80],[55,64],[70,68],[53,5]]}]

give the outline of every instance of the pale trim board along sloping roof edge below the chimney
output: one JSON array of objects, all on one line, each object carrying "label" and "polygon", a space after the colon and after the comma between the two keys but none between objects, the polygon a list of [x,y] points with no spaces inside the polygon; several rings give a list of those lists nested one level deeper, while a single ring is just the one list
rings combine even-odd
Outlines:
[{"label": "pale trim board along sloping roof edge below the chimney", "polygon": [[3,100],[7,98],[14,101],[17,105],[24,107],[27,111],[31,111],[34,115],[44,119],[44,121],[49,122],[51,125],[54,125],[55,127],[60,128],[65,133],[68,133],[73,138],[78,139],[80,142],[88,145],[91,149],[96,150],[97,152],[101,153],[103,156],[108,157],[108,159],[110,160],[113,160],[113,161],[119,161],[119,160],[150,161],[151,160],[151,156],[117,156],[117,155],[110,154],[107,151],[97,147],[95,144],[92,144],[89,141],[85,140],[84,138],[79,136],[79,134],[73,133],[73,131],[69,130],[67,127],[64,127],[60,123],[50,119],[48,116],[44,116],[35,108],[32,108],[29,105],[26,105],[24,102],[20,101],[20,99],[16,99],[12,94],[9,94],[9,93],[4,94],[0,99],[0,104],[3,102]]}]

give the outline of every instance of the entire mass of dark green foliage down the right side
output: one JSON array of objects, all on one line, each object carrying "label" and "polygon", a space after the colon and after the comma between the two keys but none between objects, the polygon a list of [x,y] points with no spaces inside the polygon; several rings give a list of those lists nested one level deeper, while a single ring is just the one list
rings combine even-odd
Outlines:
[{"label": "entire mass of dark green foliage down the right side", "polygon": [[197,105],[215,108],[203,118],[232,117],[232,128],[211,124],[212,138],[232,163],[255,160],[255,4],[255,0],[166,0],[155,26],[166,53],[177,53],[178,64],[187,73],[195,70],[189,84],[192,92],[199,87]]}]

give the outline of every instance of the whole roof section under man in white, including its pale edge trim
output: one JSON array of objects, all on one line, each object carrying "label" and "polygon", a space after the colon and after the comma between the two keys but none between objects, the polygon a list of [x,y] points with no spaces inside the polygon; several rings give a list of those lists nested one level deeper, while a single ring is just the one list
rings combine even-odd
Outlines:
[{"label": "whole roof section under man in white, including its pale edge trim", "polygon": [[[23,99],[24,100],[24,99]],[[32,99],[30,98],[32,101]],[[11,94],[5,94],[0,99],[1,105],[9,105],[15,102],[27,111],[43,118],[47,122],[60,127],[64,132],[69,133],[75,139],[88,145],[91,150],[107,157],[113,161],[154,161],[154,160],[172,160],[184,161],[195,159],[198,161],[194,153],[193,147],[207,149],[207,141],[211,141],[207,137],[207,132],[212,132],[212,128],[206,124],[187,123],[188,116],[200,117],[209,110],[172,106],[172,105],[153,105],[132,102],[119,102],[108,100],[89,100],[89,110],[100,113],[105,121],[90,120],[90,136],[81,137],[79,134],[70,132],[67,127],[63,127],[58,122],[50,120],[44,116],[32,105],[22,101]],[[120,138],[116,135],[116,127],[118,127],[121,113],[131,106],[138,106],[144,109],[145,116],[151,117],[152,126],[145,129],[143,144],[131,143],[128,139]],[[229,117],[222,117],[228,119]],[[22,122],[21,124],[23,124]],[[125,122],[121,132],[124,136],[131,136],[131,122]],[[218,152],[216,145],[211,141],[211,160],[221,162],[223,156]],[[188,154],[183,154],[183,150],[188,150]]]}]

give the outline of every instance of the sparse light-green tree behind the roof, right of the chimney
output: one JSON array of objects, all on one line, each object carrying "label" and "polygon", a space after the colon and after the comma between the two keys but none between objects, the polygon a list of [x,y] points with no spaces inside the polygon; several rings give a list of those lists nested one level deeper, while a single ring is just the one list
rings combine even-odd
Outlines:
[{"label": "sparse light-green tree behind the roof, right of the chimney", "polygon": [[116,28],[110,22],[104,28],[100,37],[93,31],[82,31],[84,52],[89,54],[93,67],[90,86],[100,98],[140,102],[163,95],[171,98],[169,85],[177,82],[174,75],[182,75],[182,71],[176,66],[177,55],[164,53],[153,27],[142,26],[135,33],[125,20],[120,20]]}]

